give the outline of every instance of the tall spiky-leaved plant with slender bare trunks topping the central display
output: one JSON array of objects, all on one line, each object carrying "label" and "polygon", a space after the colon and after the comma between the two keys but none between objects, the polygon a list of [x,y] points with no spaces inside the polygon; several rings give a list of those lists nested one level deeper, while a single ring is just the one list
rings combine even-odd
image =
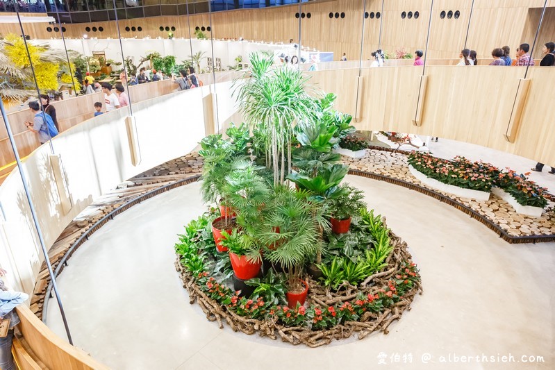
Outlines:
[{"label": "tall spiky-leaved plant with slender bare trunks topping the central display", "polygon": [[274,184],[283,183],[291,171],[293,127],[299,121],[313,119],[315,101],[306,92],[307,79],[302,72],[271,69],[272,58],[260,53],[249,58],[247,76],[251,78],[233,94],[237,94],[249,125],[265,140],[266,167],[274,171]]}]

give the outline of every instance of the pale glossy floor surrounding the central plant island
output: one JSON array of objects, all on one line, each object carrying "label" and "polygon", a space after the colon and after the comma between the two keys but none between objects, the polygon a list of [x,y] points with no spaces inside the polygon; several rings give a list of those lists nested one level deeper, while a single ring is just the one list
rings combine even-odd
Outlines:
[{"label": "pale glossy floor surrounding the central plant island", "polygon": [[[174,269],[176,234],[204,209],[194,183],[135,205],[72,256],[58,286],[74,343],[113,369],[374,369],[381,360],[387,369],[555,368],[555,243],[507,244],[423,194],[347,182],[406,240],[422,274],[424,294],[390,334],[312,349],[207,321]],[[65,337],[52,299],[48,313]]]}]

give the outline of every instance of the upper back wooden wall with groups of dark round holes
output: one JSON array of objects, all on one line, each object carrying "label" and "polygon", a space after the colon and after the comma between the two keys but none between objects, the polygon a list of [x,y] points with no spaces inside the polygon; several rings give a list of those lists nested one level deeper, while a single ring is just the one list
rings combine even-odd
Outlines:
[{"label": "upper back wooden wall with groups of dark round holes", "polygon": [[[424,49],[430,15],[430,0],[386,0],[383,7],[381,49],[394,52],[403,48],[413,52]],[[495,47],[509,45],[511,50],[522,42],[533,42],[544,0],[475,0],[467,45],[478,52],[479,58],[490,58]],[[365,11],[381,12],[381,0],[367,0]],[[429,58],[456,58],[463,48],[472,0],[436,0],[432,14],[429,40]],[[555,24],[555,0],[548,0],[544,26],[538,38],[539,44],[553,41]],[[440,19],[440,12],[459,10],[458,19]],[[415,19],[401,19],[401,12],[420,13]],[[239,38],[272,42],[298,41],[299,20],[295,13],[298,5],[275,8],[229,10],[214,12],[212,32],[214,38]],[[335,0],[314,1],[301,4],[301,12],[310,12],[310,19],[301,19],[301,44],[320,51],[333,51],[336,60],[347,53],[349,60],[358,60],[361,52],[363,30],[363,1]],[[329,12],[345,12],[344,19],[329,18]],[[208,14],[188,16],[163,16],[126,19],[119,22],[122,37],[167,37],[160,26],[175,26],[175,37],[188,38],[190,23],[192,34],[196,26],[209,26]],[[59,38],[56,33],[46,31],[47,24],[25,24],[25,32],[39,39]],[[65,24],[66,37],[83,37],[85,27],[102,26],[104,31],[89,32],[88,37],[117,38],[115,22],[93,24]],[[125,31],[125,27],[141,26],[142,31]],[[0,33],[20,33],[18,24],[0,24]],[[209,35],[210,33],[208,33]],[[379,44],[380,19],[365,19],[363,59]],[[536,49],[539,58],[541,47]]]}]

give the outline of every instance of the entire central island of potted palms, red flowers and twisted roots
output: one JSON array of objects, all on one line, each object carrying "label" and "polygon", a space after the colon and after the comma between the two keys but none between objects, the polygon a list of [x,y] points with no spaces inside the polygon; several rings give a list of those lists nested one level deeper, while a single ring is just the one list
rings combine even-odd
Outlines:
[{"label": "entire central island of potted palms, red flowers and twisted roots", "polygon": [[201,192],[216,207],[175,246],[191,302],[220,327],[292,344],[387,333],[420,275],[363,193],[342,183],[349,168],[333,149],[354,133],[351,117],[270,56],[250,65],[235,89],[247,122],[201,142]]}]

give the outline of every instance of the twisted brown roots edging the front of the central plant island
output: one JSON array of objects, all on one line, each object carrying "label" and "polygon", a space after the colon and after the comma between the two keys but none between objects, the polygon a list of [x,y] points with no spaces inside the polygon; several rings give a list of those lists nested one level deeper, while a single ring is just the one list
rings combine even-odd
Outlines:
[{"label": "twisted brown roots edging the front of the central plant island", "polygon": [[[306,278],[310,287],[307,301],[326,310],[329,306],[336,303],[349,302],[358,297],[359,294],[366,296],[367,294],[376,294],[380,289],[387,287],[388,280],[395,274],[403,274],[403,262],[411,261],[411,254],[408,253],[406,243],[402,242],[395,234],[390,233],[390,239],[393,251],[387,258],[387,266],[372,276],[368,276],[358,287],[344,282],[340,288],[334,292],[331,289],[317,283],[317,281]],[[383,312],[376,314],[375,312],[364,312],[358,321],[344,321],[332,328],[311,329],[307,326],[285,326],[279,322],[276,317],[267,319],[251,319],[242,317],[224,305],[220,305],[218,301],[210,298],[197,285],[196,279],[190,274],[185,267],[181,265],[178,256],[175,263],[176,271],[179,272],[183,287],[188,290],[190,303],[197,302],[201,310],[206,314],[209,321],[217,321],[219,328],[223,328],[224,321],[229,327],[236,332],[242,332],[247,335],[258,333],[261,337],[269,337],[270,339],[281,338],[283,342],[290,343],[294,346],[304,344],[310,348],[316,348],[331,343],[333,339],[340,340],[352,337],[358,333],[358,339],[364,339],[367,335],[376,331],[384,334],[389,333],[389,326],[395,320],[401,318],[405,310],[411,310],[411,303],[416,294],[422,294],[422,284],[417,281],[412,289],[405,292],[399,301],[394,305],[386,308]]]}]

